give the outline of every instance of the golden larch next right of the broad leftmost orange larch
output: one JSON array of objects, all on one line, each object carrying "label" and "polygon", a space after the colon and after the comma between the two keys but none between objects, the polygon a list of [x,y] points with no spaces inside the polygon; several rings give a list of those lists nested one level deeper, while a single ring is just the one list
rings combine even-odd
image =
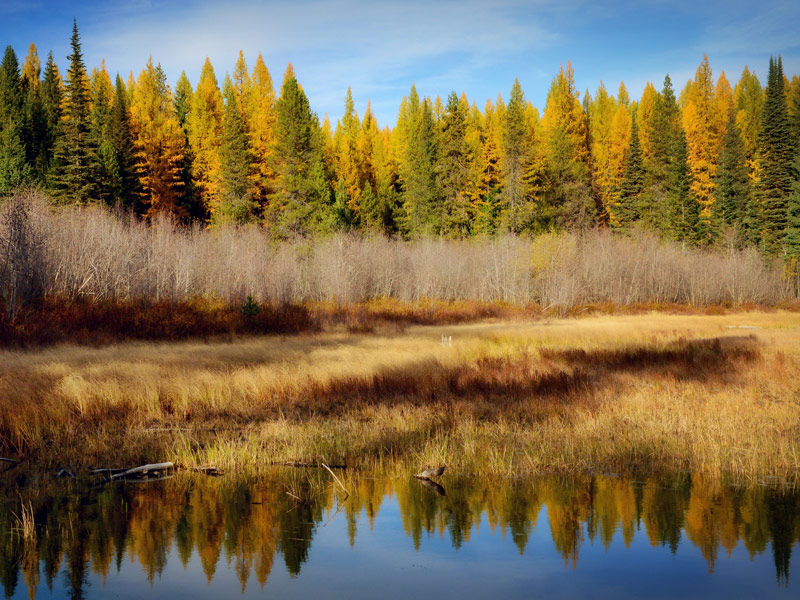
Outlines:
[{"label": "golden larch next right of the broad leftmost orange larch", "polygon": [[212,218],[217,210],[219,198],[219,147],[223,112],[222,93],[214,75],[214,67],[206,58],[197,89],[192,95],[192,105],[186,124],[189,144],[194,153],[192,180],[200,201]]}]

